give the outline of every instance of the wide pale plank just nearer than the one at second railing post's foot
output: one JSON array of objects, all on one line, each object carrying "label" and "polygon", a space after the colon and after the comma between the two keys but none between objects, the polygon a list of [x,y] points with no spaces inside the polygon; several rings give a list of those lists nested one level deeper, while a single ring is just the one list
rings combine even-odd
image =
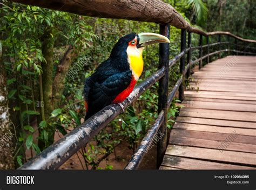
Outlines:
[{"label": "wide pale plank just nearer than the one at second railing post's foot", "polygon": [[183,107],[180,109],[179,116],[198,117],[209,119],[226,119],[235,121],[256,121],[256,114],[252,112],[235,112],[235,111],[216,111],[204,110],[199,108]]}]

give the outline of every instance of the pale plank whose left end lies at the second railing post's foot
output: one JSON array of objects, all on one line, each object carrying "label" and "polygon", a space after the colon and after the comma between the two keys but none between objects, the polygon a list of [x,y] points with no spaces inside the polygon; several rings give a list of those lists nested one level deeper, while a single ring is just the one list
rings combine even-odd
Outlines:
[{"label": "pale plank whose left end lies at the second railing post's foot", "polygon": [[182,102],[183,106],[190,108],[204,108],[210,110],[226,110],[226,111],[240,111],[240,112],[256,112],[256,106],[250,104],[233,104],[233,103],[218,103],[211,101],[188,101]]}]

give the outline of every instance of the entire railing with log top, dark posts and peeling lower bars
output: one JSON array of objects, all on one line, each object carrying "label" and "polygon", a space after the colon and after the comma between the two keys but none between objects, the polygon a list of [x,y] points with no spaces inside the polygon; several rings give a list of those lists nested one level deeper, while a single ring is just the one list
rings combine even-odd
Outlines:
[{"label": "entire railing with log top, dark posts and peeling lower bars", "polygon": [[[43,152],[36,155],[33,159],[25,163],[19,169],[56,169],[75,154],[83,145],[85,145],[100,130],[109,124],[114,118],[122,113],[122,107],[126,108],[131,105],[142,93],[149,89],[153,84],[159,81],[158,89],[158,118],[152,128],[147,132],[142,140],[138,150],[132,156],[130,162],[125,169],[137,169],[142,161],[147,147],[151,144],[157,132],[164,134],[157,144],[157,167],[163,160],[167,145],[167,110],[175,94],[179,91],[179,99],[184,99],[184,80],[190,76],[191,67],[199,63],[199,67],[203,67],[203,60],[213,55],[221,56],[221,52],[242,53],[243,55],[255,55],[255,47],[248,46],[256,43],[256,40],[243,39],[233,35],[230,32],[210,32],[206,33],[202,30],[193,28],[185,19],[169,4],[161,1],[85,1],[85,0],[53,0],[53,1],[37,1],[37,0],[15,0],[14,2],[29,5],[37,5],[43,8],[55,9],[60,11],[77,13],[79,15],[102,17],[102,18],[119,18],[130,19],[134,21],[154,22],[160,26],[160,34],[166,37],[170,35],[170,25],[181,29],[180,53],[173,59],[169,60],[169,44],[159,45],[159,70],[152,76],[146,78],[144,82],[138,84],[130,96],[124,100],[122,104],[113,104],[106,106],[100,112],[85,121],[82,125],[75,128],[62,139],[56,141],[53,145],[46,148]],[[199,37],[199,46],[191,46],[191,35],[197,33]],[[188,43],[186,44],[186,35],[188,34]],[[203,45],[203,36],[207,39],[207,44]],[[211,36],[218,36],[218,42],[209,43]],[[221,36],[227,36],[227,42],[221,41]],[[233,38],[233,42],[229,38]],[[246,49],[242,49],[241,44],[246,43]],[[227,44],[228,47],[221,49],[221,45]],[[187,48],[186,48],[187,45]],[[230,48],[230,45],[234,46]],[[210,48],[218,47],[218,51],[210,53]],[[206,53],[204,54],[204,49]],[[191,52],[199,49],[199,56],[196,60],[191,60]],[[187,60],[186,60],[187,55]],[[169,68],[177,62],[180,62],[180,74],[176,85],[170,93],[168,93],[169,84]]]}]

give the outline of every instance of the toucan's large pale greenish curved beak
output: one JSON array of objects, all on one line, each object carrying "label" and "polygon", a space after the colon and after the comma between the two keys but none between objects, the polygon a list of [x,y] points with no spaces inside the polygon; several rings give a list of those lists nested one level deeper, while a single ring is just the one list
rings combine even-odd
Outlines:
[{"label": "toucan's large pale greenish curved beak", "polygon": [[137,48],[142,48],[150,44],[157,43],[170,43],[170,40],[163,35],[159,35],[158,33],[139,33],[139,44]]}]

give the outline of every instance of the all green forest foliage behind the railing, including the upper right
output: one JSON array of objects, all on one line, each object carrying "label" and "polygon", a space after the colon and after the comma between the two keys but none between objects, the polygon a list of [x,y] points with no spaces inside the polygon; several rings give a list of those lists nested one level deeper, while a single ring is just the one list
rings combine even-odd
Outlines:
[{"label": "all green forest foliage behind the railing, including the upper right", "polygon": [[[84,17],[6,0],[2,2],[0,37],[3,39],[5,50],[4,65],[8,76],[10,108],[13,115],[17,116],[14,118],[18,126],[18,148],[15,157],[20,166],[26,161],[24,158],[26,151],[28,153],[32,150],[33,154],[38,154],[43,150],[38,140],[48,145],[52,131],[65,135],[72,128],[83,123],[84,80],[109,57],[117,40],[130,32],[158,33],[159,25],[122,19]],[[222,5],[217,0],[165,0],[165,2],[172,4],[187,22],[200,25],[205,30],[230,30],[234,33],[235,31],[238,34],[242,33],[248,38],[255,36],[255,27],[253,28],[252,23],[255,20],[256,9],[252,1],[235,3],[225,1]],[[207,12],[207,9],[211,11]],[[236,17],[234,21],[233,17],[237,12],[241,16]],[[220,23],[216,24],[216,21]],[[240,27],[241,23],[244,23],[242,27]],[[68,46],[72,46],[77,54],[71,66],[83,63],[83,67],[72,77],[68,75],[65,77],[64,92],[59,100],[59,106],[52,107],[49,111],[50,117],[43,120],[41,108],[44,104],[39,93],[39,74],[45,72],[41,66],[46,62],[42,44],[45,33],[49,31],[51,32],[48,38],[54,42],[52,78],[58,69],[61,69],[59,60],[63,58]],[[180,29],[171,26],[170,31],[170,58],[173,58],[180,52]],[[198,39],[198,35],[192,35],[193,46],[198,45]],[[139,83],[157,71],[158,51],[157,45],[149,46],[144,50],[144,72]],[[193,51],[191,56],[193,60],[196,59],[198,50]],[[176,64],[170,70],[169,92],[179,77],[179,64]],[[187,86],[190,87],[189,84]],[[172,127],[174,118],[179,113],[181,106],[178,106],[178,103],[179,100],[174,99],[171,104],[167,114],[168,128]],[[48,111],[46,107],[43,108]],[[84,147],[82,154],[86,166],[103,169],[100,167],[100,162],[124,141],[128,142],[129,148],[134,151],[157,118],[157,111],[158,83],[140,96],[124,114],[118,116]],[[113,166],[106,164],[104,168],[113,169]]]}]

